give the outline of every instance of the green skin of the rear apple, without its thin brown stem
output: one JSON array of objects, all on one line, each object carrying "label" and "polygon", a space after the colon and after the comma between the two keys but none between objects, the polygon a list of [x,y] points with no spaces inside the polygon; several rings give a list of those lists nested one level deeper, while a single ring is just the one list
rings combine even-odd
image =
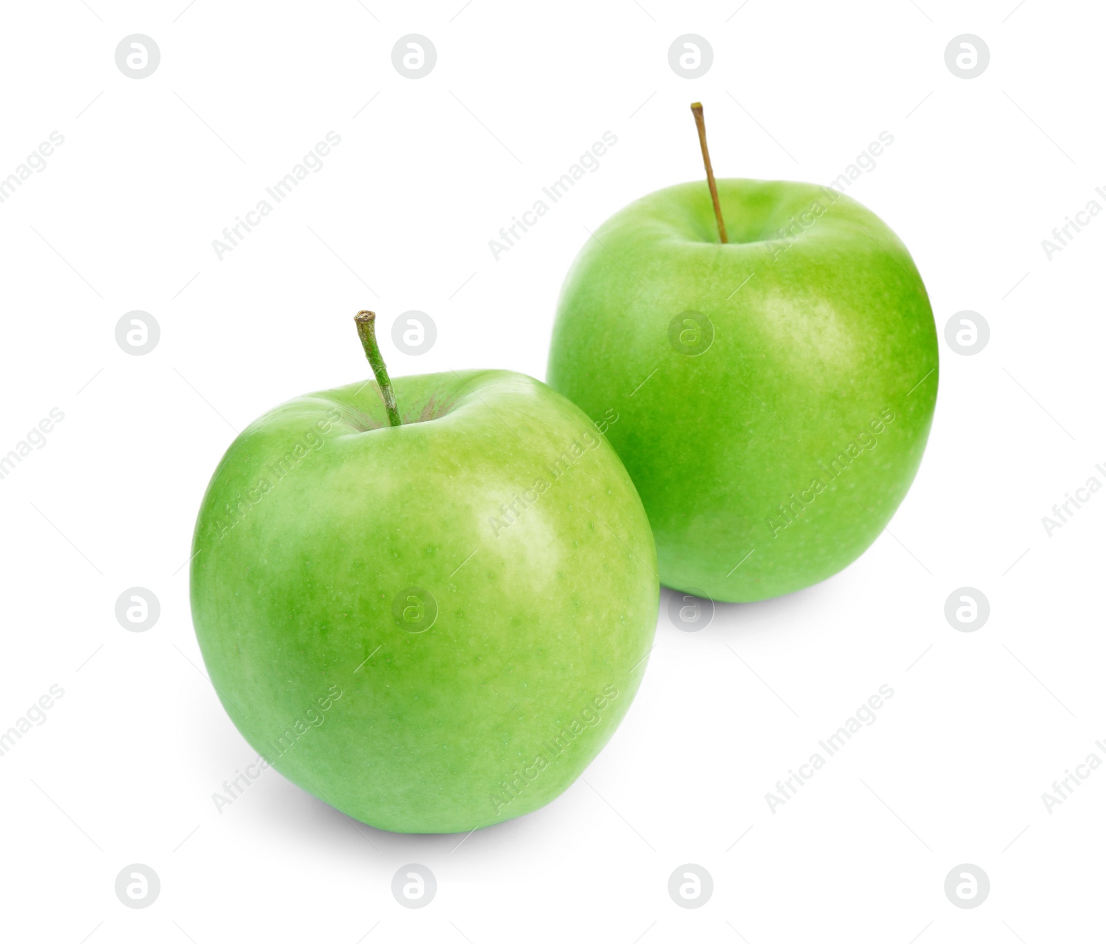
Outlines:
[{"label": "green skin of the rear apple, without its thin brown stem", "polygon": [[[748,602],[824,580],[878,537],[929,435],[937,330],[906,247],[855,200],[791,181],[718,193],[727,245],[706,183],[599,227],[565,279],[547,380],[620,417],[607,435],[660,582]],[[713,329],[700,353],[710,329],[689,311]]]}]

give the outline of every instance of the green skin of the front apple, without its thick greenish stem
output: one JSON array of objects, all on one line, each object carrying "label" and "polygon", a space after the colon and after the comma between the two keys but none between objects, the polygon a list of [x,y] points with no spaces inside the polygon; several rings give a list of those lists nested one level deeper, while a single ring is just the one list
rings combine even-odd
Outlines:
[{"label": "green skin of the front apple, without its thick greenish stem", "polygon": [[545,384],[393,383],[403,426],[368,382],[234,440],[196,522],[192,619],[276,770],[380,829],[468,831],[550,802],[614,733],[653,645],[656,552],[618,457]]}]

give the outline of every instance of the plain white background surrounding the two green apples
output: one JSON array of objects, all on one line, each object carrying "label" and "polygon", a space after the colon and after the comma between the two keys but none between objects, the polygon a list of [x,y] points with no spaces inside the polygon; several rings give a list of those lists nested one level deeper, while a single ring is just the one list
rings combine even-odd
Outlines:
[{"label": "plain white background surrounding the two green apples", "polygon": [[[1106,483],[1106,219],[1051,261],[1041,241],[1106,206],[1102,9],[185,2],[3,12],[0,176],[52,131],[65,141],[0,205],[0,453],[52,407],[64,421],[0,480],[0,729],[51,685],[65,694],[0,757],[2,936],[1088,940],[1106,772],[1051,812],[1042,793],[1106,759],[1106,495],[1051,537],[1041,519],[1089,476]],[[149,77],[116,68],[131,33],[160,48]],[[437,48],[425,79],[393,66],[407,33]],[[701,79],[669,68],[682,33],[713,48]],[[990,48],[977,79],[946,66],[960,33]],[[910,248],[939,331],[966,309],[990,324],[974,356],[942,336],[929,449],[889,531],[834,579],[719,606],[702,632],[671,624],[664,591],[637,701],[539,812],[467,839],[396,836],[273,771],[217,812],[211,795],[254,755],[201,673],[184,564],[234,430],[363,378],[361,308],[436,321],[418,357],[385,332],[394,374],[544,376],[585,227],[699,178],[697,98],[720,176],[827,183],[894,135],[849,193]],[[211,241],[328,131],[342,143],[323,169],[220,261]],[[488,240],[605,131],[618,142],[599,169],[495,261]],[[144,356],[115,341],[132,310],[160,325]],[[161,605],[145,633],[114,615],[136,585]],[[977,632],[943,614],[964,585],[990,600]],[[883,684],[895,695],[876,723],[772,812],[776,780]],[[145,910],[114,893],[135,862],[160,876]],[[419,911],[390,892],[409,862],[438,880]],[[693,911],[667,892],[688,862],[714,883]],[[974,910],[943,891],[964,862],[990,876]]]}]

